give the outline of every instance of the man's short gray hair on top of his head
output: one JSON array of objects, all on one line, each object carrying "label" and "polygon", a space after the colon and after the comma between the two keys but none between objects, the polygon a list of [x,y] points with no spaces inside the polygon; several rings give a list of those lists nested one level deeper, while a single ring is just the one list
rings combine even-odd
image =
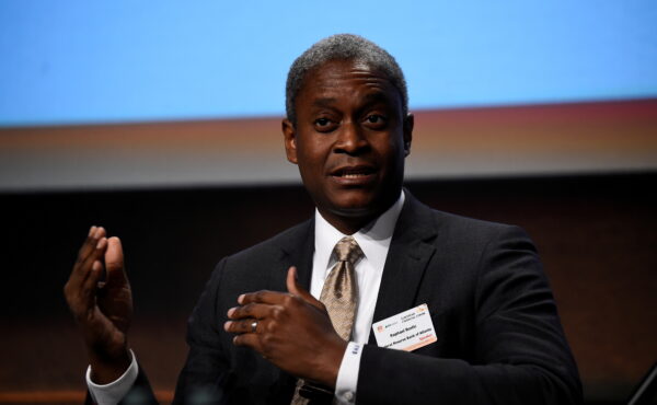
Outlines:
[{"label": "man's short gray hair on top of his head", "polygon": [[306,76],[325,62],[332,60],[358,60],[388,76],[402,96],[402,114],[408,114],[408,91],[404,73],[396,60],[385,49],[361,36],[337,34],[324,38],[308,48],[298,57],[288,72],[285,88],[285,108],[287,118],[297,123],[295,101],[303,86]]}]

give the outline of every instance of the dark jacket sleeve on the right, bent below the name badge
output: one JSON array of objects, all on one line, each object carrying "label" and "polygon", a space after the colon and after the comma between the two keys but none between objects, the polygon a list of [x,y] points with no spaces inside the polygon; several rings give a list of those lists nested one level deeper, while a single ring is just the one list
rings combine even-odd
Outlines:
[{"label": "dark jacket sleeve on the right, bent below the name badge", "polygon": [[358,404],[578,404],[581,385],[535,248],[500,227],[472,271],[472,358],[366,345]]}]

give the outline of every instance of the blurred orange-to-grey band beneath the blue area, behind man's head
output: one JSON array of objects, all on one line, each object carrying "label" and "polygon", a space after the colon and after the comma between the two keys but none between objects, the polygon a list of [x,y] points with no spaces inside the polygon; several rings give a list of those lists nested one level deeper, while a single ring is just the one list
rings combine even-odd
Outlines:
[{"label": "blurred orange-to-grey band beneath the blue area, behind man's head", "polygon": [[[657,99],[414,113],[408,180],[657,170]],[[0,128],[0,192],[297,184],[280,119]]]}]

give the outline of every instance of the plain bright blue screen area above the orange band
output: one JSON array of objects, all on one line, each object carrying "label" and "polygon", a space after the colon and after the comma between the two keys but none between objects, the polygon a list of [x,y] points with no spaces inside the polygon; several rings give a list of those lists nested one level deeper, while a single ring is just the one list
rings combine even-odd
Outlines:
[{"label": "plain bright blue screen area above the orange band", "polygon": [[657,96],[657,2],[0,2],[0,126],[277,116],[293,58],[361,34],[414,109]]}]

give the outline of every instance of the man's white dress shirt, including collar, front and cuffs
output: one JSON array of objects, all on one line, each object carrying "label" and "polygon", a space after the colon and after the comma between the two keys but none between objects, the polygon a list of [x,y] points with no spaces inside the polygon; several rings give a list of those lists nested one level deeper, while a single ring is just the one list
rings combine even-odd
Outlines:
[{"label": "man's white dress shirt, including collar, front and cuffs", "polygon": [[[369,338],[381,277],[383,276],[383,266],[385,265],[396,220],[404,206],[404,192],[402,192],[392,207],[351,235],[360,246],[364,256],[355,266],[358,282],[358,309],[354,320],[351,342],[345,350],[335,384],[335,398],[341,404],[353,404],[356,401],[361,348]],[[336,230],[315,209],[314,236],[315,246],[310,293],[319,300],[324,280],[337,262],[335,255],[333,255],[333,248],[346,235]],[[130,354],[132,354],[131,350]],[[87,370],[87,386],[95,403],[115,405],[130,391],[138,373],[137,358],[132,354],[132,362],[126,372],[110,384],[99,385],[91,381],[90,366]]]}]

